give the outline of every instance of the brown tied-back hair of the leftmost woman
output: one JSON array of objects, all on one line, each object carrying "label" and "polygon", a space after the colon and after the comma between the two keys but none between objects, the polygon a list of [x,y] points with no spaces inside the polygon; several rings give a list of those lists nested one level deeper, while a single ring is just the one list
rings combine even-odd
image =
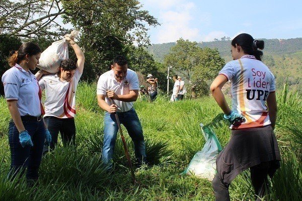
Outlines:
[{"label": "brown tied-back hair of the leftmost woman", "polygon": [[28,54],[29,56],[36,55],[41,52],[40,47],[32,42],[23,43],[18,51],[12,51],[9,57],[10,66],[15,66],[16,63],[20,63],[25,59],[25,56]]}]

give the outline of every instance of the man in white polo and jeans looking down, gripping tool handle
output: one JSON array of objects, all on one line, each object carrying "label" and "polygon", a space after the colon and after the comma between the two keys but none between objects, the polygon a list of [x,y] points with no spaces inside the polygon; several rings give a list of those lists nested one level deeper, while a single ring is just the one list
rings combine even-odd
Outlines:
[{"label": "man in white polo and jeans looking down, gripping tool handle", "polygon": [[138,165],[146,162],[142,128],[133,108],[138,90],[137,74],[128,69],[127,60],[121,55],[115,57],[111,70],[105,72],[99,78],[97,86],[98,104],[106,111],[102,161],[108,169],[112,168],[113,149],[118,132],[114,113],[118,115],[120,123],[125,126],[133,141]]}]

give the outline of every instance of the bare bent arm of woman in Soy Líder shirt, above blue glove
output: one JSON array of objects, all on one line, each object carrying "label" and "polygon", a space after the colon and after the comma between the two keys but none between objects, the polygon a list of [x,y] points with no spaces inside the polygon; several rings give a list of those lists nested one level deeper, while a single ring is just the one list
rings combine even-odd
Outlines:
[{"label": "bare bent arm of woman in Soy L\u00edder shirt, above blue glove", "polygon": [[218,75],[210,86],[211,93],[216,100],[217,104],[221,108],[224,114],[228,115],[231,113],[231,109],[226,103],[225,97],[221,91],[222,86],[228,81],[224,75]]}]

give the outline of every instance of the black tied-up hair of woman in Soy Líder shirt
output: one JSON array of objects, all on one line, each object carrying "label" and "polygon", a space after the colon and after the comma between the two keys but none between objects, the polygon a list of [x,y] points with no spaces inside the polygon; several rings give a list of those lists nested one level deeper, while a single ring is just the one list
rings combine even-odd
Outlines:
[{"label": "black tied-up hair of woman in Soy L\u00edder shirt", "polygon": [[232,40],[231,44],[234,47],[236,47],[236,44],[240,45],[244,53],[254,55],[257,60],[261,61],[263,52],[260,50],[264,49],[264,41],[254,40],[254,38],[250,34],[239,34]]}]

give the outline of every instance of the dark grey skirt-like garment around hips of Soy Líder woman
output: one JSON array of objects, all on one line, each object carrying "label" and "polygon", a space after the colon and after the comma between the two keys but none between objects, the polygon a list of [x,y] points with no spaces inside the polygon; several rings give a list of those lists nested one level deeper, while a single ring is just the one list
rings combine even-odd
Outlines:
[{"label": "dark grey skirt-like garment around hips of Soy L\u00edder woman", "polygon": [[269,162],[270,176],[280,167],[280,151],[272,127],[232,130],[231,140],[218,154],[217,174],[225,184],[242,171]]}]

